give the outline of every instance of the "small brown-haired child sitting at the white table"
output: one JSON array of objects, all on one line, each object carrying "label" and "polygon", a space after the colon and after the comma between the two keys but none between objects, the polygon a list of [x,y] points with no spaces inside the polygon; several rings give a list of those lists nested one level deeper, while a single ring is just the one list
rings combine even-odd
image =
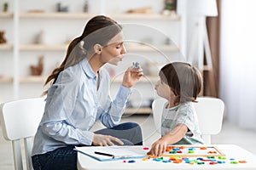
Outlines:
[{"label": "small brown-haired child sitting at the white table", "polygon": [[201,92],[202,77],[194,66],[183,62],[165,65],[155,85],[157,94],[168,100],[162,114],[161,138],[148,154],[161,156],[168,144],[203,144],[195,108]]}]

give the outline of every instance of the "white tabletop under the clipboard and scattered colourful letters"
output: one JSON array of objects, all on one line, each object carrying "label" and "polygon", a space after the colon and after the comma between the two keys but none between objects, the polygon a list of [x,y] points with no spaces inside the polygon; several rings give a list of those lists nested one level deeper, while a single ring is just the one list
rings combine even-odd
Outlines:
[{"label": "white tabletop under the clipboard and scattered colourful letters", "polygon": [[[161,161],[153,161],[152,159],[148,161],[143,161],[143,159],[134,159],[135,163],[123,162],[123,160],[118,161],[96,161],[89,156],[78,153],[78,169],[79,170],[106,170],[106,169],[229,169],[229,170],[244,170],[251,169],[256,170],[256,156],[250,153],[247,150],[242,149],[241,147],[234,144],[212,144],[213,146],[218,147],[219,150],[222,150],[227,158],[224,164],[210,165],[209,162],[206,162],[204,165],[189,165],[188,163],[165,163]],[[145,150],[145,153],[148,150]],[[247,163],[231,164],[230,158],[235,158],[237,161],[247,161]]]}]

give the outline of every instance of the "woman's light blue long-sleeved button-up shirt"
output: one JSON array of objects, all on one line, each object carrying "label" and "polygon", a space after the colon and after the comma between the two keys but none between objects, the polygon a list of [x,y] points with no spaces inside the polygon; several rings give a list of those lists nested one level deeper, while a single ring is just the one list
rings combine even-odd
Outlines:
[{"label": "woman's light blue long-sleeved button-up shirt", "polygon": [[130,88],[120,86],[115,99],[109,94],[108,71],[99,71],[100,86],[87,59],[61,71],[46,99],[44,116],[34,138],[32,156],[65,147],[92,143],[90,128],[96,120],[106,127],[117,125],[125,111]]}]

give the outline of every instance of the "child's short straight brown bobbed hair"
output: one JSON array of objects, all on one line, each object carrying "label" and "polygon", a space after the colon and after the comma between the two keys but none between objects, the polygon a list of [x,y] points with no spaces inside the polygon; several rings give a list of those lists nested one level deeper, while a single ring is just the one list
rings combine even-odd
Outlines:
[{"label": "child's short straight brown bobbed hair", "polygon": [[165,82],[177,95],[178,101],[175,102],[195,101],[201,92],[201,72],[189,63],[169,63],[161,68],[159,76],[160,80]]}]

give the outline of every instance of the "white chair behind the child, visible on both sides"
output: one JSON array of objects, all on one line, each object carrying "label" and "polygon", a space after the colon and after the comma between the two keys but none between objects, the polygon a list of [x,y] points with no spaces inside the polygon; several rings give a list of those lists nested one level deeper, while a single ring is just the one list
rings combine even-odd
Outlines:
[{"label": "white chair behind the child, visible on both sides", "polygon": [[[224,102],[218,98],[199,97],[195,103],[199,127],[205,144],[211,144],[211,135],[218,134],[222,128]],[[155,99],[152,103],[154,125],[160,133],[161,114],[166,99]]]}]

